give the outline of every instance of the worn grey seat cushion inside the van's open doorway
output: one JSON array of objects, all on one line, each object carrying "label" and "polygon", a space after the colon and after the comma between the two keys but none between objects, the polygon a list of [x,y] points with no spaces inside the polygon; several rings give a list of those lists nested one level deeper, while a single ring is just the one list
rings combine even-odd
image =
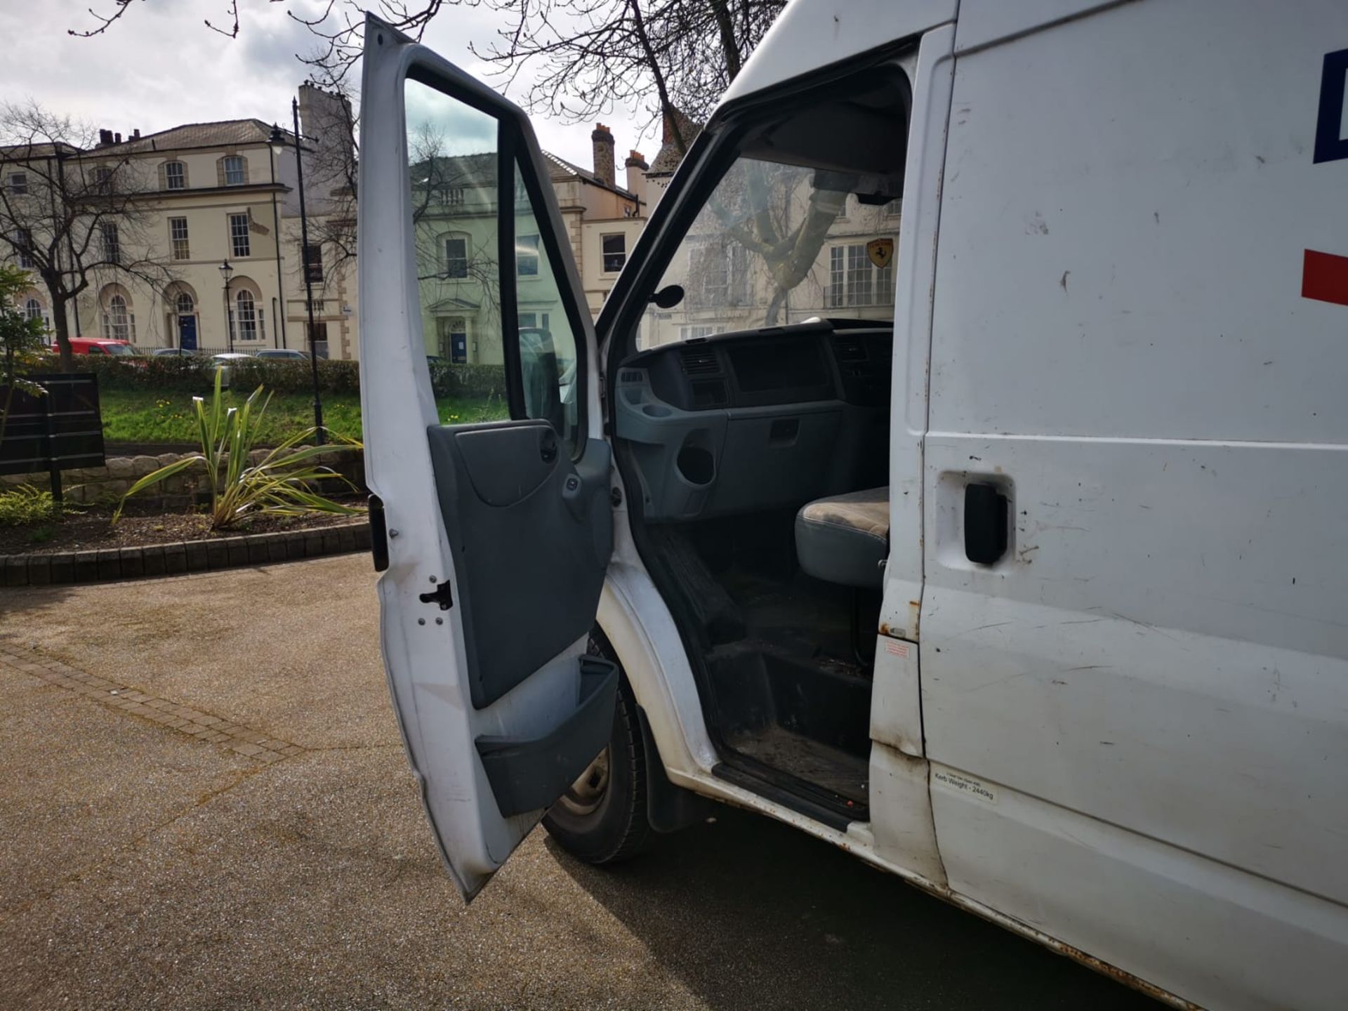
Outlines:
[{"label": "worn grey seat cushion inside the van's open doorway", "polygon": [[817,580],[879,588],[890,554],[890,489],[816,499],[795,514],[795,554]]}]

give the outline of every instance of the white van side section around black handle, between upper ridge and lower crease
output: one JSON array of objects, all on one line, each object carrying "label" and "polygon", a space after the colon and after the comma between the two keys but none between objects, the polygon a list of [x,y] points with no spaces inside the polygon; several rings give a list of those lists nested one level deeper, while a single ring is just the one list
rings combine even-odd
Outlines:
[{"label": "white van side section around black handle, between upper ridge and lower crease", "polygon": [[1341,566],[1289,537],[1343,522],[1326,453],[933,434],[929,473],[971,454],[1015,522],[989,569],[938,534],[927,755],[1348,903]]}]

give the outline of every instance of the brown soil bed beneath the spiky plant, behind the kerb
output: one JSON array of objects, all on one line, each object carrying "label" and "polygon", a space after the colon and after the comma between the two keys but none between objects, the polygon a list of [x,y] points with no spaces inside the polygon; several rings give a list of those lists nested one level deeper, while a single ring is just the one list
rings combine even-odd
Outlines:
[{"label": "brown soil bed beneath the spiky plant, behind the kerb", "polygon": [[[352,500],[350,504],[357,504]],[[249,516],[229,530],[212,530],[210,516],[204,512],[159,512],[128,503],[116,526],[109,524],[112,507],[84,506],[78,512],[61,520],[30,523],[22,527],[0,527],[0,555],[50,554],[54,551],[85,551],[89,549],[143,547],[182,541],[213,541],[244,534],[271,534],[275,531],[321,530],[359,520],[361,515],[344,516],[317,512],[307,516]]]}]

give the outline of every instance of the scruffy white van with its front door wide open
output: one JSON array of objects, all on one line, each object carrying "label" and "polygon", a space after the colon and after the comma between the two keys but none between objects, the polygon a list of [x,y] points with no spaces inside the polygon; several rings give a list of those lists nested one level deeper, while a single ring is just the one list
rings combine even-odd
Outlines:
[{"label": "scruffy white van with its front door wide open", "polygon": [[[383,650],[464,895],[716,798],[1348,1007],[1345,69],[1343,0],[797,0],[592,325],[527,119],[371,20]],[[514,421],[438,423],[449,315]]]}]

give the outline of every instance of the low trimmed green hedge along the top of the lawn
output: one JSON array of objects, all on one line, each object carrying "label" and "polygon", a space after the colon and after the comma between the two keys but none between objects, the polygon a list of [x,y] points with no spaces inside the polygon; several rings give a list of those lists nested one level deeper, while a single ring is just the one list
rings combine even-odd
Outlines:
[{"label": "low trimmed green hedge along the top of the lawn", "polygon": [[[53,365],[51,371],[55,368]],[[204,394],[209,392],[214,381],[214,372],[204,359],[173,355],[143,359],[81,355],[75,359],[75,369],[97,373],[102,390],[175,390]],[[435,396],[506,398],[504,365],[433,364],[430,381]],[[278,394],[301,394],[313,390],[313,376],[307,361],[248,359],[229,363],[229,384],[236,390],[263,386]],[[360,364],[319,359],[318,388],[332,394],[359,392]]]}]

